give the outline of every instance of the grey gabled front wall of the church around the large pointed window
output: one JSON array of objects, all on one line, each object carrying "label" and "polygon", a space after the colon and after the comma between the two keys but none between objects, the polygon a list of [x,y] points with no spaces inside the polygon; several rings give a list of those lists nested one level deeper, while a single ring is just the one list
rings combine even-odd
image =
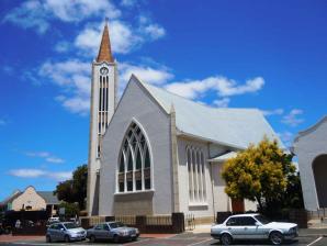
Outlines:
[{"label": "grey gabled front wall of the church around the large pointed window", "polygon": [[[129,144],[133,145],[134,135],[142,137],[140,133],[147,139],[147,147],[144,146],[138,154],[138,148]],[[126,139],[128,148],[124,149]],[[142,138],[139,141],[142,145]],[[132,78],[102,142],[100,214],[137,214],[137,211],[139,214],[171,213],[170,143],[170,116],[142,85]],[[124,161],[121,158],[123,153]],[[147,153],[150,159],[149,169],[145,167]],[[144,165],[143,171],[136,170],[138,155],[142,156],[139,160],[140,165]],[[120,172],[120,165],[128,169],[128,161],[131,168],[135,166],[133,171],[122,169]],[[150,204],[146,211],[145,204]]]}]

